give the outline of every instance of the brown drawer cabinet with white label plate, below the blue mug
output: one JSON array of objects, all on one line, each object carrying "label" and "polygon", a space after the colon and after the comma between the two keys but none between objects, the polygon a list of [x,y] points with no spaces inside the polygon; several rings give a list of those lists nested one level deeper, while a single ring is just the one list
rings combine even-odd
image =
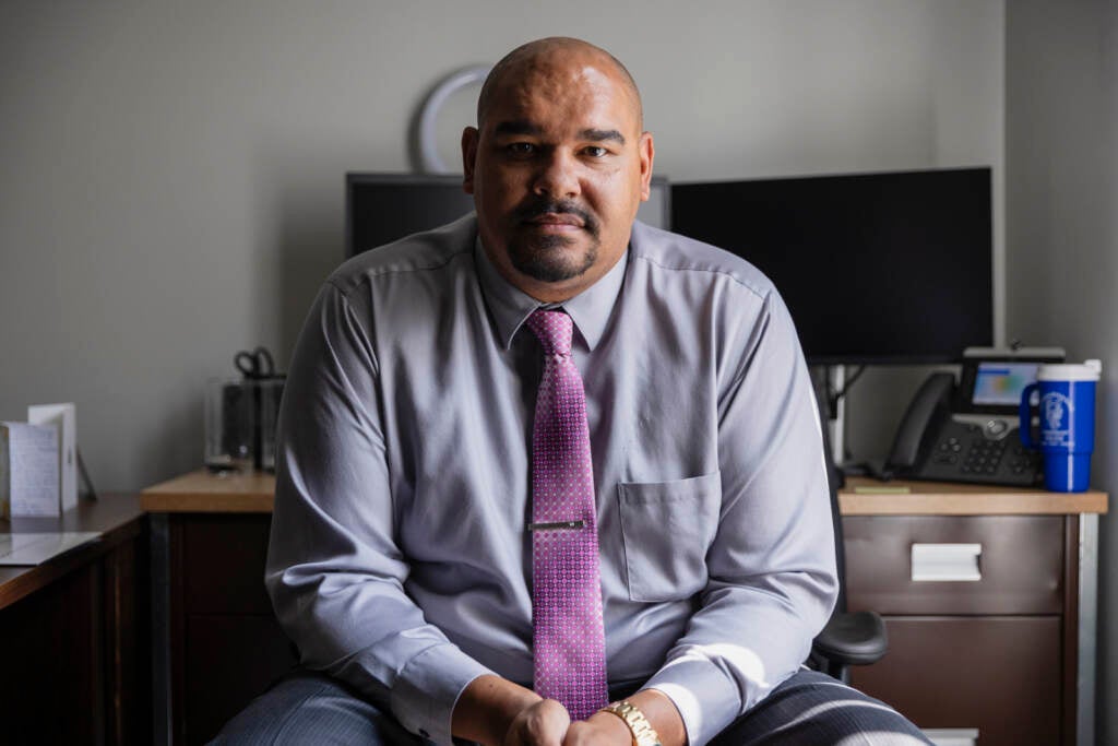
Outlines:
[{"label": "brown drawer cabinet with white label plate, below the blue mug", "polygon": [[[889,652],[853,667],[851,683],[920,728],[977,734],[979,746],[1090,743],[1080,733],[1091,715],[1080,698],[1092,691],[1078,687],[1088,642],[1080,640],[1081,514],[1042,504],[1046,493],[1036,491],[1014,508],[983,504],[998,488],[913,489],[957,499],[936,507],[896,494],[882,509],[884,495],[860,508],[855,495],[842,495],[851,498],[843,517],[847,606],[878,612],[889,632]],[[1105,511],[1106,495],[1093,499],[1089,507]],[[954,567],[929,572],[923,549]]]}]

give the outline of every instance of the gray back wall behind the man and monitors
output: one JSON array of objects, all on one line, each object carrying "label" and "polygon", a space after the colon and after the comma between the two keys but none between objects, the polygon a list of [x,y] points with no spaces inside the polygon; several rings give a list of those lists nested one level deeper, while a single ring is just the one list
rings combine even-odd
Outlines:
[{"label": "gray back wall behind the man and monitors", "polygon": [[1002,171],[999,1],[8,0],[0,417],[76,402],[100,489],[200,465],[205,381],[285,360],[341,258],[342,174],[407,169],[436,81],[549,34],[632,67],[672,178]]}]

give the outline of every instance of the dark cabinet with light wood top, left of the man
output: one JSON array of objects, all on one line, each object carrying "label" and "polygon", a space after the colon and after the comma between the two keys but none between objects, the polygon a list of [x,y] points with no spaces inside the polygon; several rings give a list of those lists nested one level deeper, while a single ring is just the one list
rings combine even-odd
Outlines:
[{"label": "dark cabinet with light wood top, left of the man", "polygon": [[296,662],[264,589],[275,483],[195,472],[144,490],[152,513],[154,744],[203,744]]}]

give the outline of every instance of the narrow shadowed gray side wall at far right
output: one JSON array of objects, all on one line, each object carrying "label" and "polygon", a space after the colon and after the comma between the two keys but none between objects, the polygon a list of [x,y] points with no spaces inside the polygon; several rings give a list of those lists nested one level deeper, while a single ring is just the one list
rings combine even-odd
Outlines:
[{"label": "narrow shadowed gray side wall at far right", "polygon": [[[1092,482],[1118,491],[1118,2],[1006,12],[1007,331],[1102,360]],[[1100,521],[1097,740],[1118,743],[1118,516]]]}]

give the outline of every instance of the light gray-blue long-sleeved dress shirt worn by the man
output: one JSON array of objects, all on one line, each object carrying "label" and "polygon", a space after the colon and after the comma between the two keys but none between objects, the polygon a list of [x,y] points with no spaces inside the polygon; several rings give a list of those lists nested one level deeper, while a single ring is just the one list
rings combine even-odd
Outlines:
[{"label": "light gray-blue long-sleeved dress shirt worn by the man", "polygon": [[[304,663],[451,743],[462,690],[531,686],[539,303],[476,219],[329,278],[284,391],[266,584]],[[587,394],[612,686],[672,698],[701,746],[790,676],[836,593],[814,395],[742,259],[634,225],[562,304]]]}]

